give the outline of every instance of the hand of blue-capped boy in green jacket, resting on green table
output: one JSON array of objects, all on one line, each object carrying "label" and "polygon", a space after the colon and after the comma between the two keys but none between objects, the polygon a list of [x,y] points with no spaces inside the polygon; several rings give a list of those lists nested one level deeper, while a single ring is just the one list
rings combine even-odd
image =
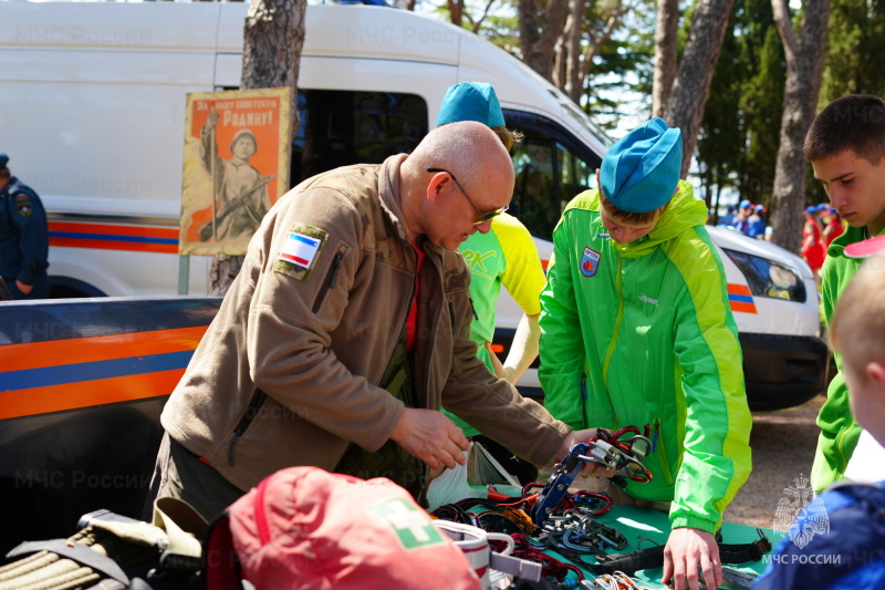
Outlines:
[{"label": "hand of blue-capped boy in green jacket, resting on green table", "polygon": [[[688,527],[673,529],[664,548],[664,578],[660,583],[668,583],[673,579],[676,590],[698,590],[698,566],[707,580],[707,588],[722,584],[722,562],[712,534]],[[715,583],[710,583],[710,580],[715,580]]]}]

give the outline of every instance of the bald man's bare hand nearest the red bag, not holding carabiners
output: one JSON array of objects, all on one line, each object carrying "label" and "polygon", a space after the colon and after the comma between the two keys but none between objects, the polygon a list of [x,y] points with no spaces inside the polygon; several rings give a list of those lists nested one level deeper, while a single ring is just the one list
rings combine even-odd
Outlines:
[{"label": "bald man's bare hand nearest the red bag, not holding carabiners", "polygon": [[464,452],[470,448],[464,432],[436,410],[407,407],[391,438],[431,469],[440,464],[449,469],[454,469],[456,463],[464,465],[467,460]]}]

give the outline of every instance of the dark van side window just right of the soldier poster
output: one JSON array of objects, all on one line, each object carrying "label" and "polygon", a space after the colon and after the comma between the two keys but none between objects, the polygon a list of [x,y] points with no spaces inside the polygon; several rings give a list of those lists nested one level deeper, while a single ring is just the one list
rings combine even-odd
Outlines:
[{"label": "dark van side window just right of the soldier poster", "polygon": [[414,94],[300,90],[290,186],[351,164],[381,164],[427,134],[427,103]]}]

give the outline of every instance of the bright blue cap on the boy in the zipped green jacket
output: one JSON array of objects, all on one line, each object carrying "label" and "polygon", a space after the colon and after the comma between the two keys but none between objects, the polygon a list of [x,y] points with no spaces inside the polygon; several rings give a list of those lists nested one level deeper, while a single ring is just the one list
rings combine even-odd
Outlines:
[{"label": "bright blue cap on the boy in the zipped green jacket", "polygon": [[668,203],[683,170],[683,133],[660,117],[626,134],[602,161],[600,183],[612,205],[648,213]]}]

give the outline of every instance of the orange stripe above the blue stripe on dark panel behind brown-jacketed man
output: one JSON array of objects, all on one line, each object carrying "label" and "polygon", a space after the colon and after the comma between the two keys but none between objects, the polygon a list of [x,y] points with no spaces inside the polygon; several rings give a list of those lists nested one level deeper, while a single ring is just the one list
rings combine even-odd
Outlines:
[{"label": "orange stripe above the blue stripe on dark panel behind brown-jacketed man", "polygon": [[3,370],[20,371],[180,352],[196,349],[207,328],[208,325],[197,325],[174,330],[9,344],[0,346],[0,359],[2,359]]}]

